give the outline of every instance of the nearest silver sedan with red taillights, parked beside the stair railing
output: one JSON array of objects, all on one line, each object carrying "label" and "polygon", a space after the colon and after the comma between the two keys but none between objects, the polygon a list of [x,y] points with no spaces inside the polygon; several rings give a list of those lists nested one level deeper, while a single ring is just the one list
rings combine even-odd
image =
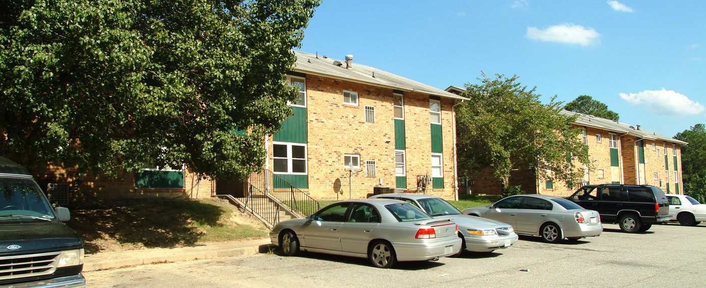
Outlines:
[{"label": "nearest silver sedan with red taillights, parked beside the stair railing", "polygon": [[369,258],[379,268],[396,261],[427,261],[461,249],[458,226],[434,219],[416,206],[397,200],[338,201],[313,213],[277,223],[270,240],[285,256],[299,249]]}]

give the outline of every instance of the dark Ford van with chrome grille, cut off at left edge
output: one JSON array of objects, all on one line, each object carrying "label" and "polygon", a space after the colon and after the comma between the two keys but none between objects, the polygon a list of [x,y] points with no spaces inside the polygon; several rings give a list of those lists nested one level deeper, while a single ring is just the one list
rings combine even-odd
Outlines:
[{"label": "dark Ford van with chrome grille, cut off at left edge", "polygon": [[85,287],[83,241],[32,175],[0,157],[0,287]]}]

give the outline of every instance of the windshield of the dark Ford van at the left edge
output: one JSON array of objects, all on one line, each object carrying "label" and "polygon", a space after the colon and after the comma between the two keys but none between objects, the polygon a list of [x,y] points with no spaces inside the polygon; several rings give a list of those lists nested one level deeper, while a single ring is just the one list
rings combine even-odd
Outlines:
[{"label": "windshield of the dark Ford van at the left edge", "polygon": [[0,217],[54,218],[52,208],[31,179],[0,178]]}]

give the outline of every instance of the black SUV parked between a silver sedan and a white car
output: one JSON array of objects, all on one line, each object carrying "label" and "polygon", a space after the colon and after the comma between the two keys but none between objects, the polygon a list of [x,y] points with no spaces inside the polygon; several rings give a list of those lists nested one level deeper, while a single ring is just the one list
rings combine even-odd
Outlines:
[{"label": "black SUV parked between a silver sedan and a white car", "polygon": [[585,185],[566,199],[598,211],[602,223],[616,223],[628,233],[666,223],[669,213],[669,200],[662,189],[650,185]]}]

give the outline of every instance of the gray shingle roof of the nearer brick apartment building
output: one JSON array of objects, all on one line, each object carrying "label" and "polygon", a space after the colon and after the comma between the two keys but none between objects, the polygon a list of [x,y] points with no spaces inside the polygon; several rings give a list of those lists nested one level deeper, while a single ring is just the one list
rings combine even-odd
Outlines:
[{"label": "gray shingle roof of the nearer brick apartment building", "polygon": [[[331,77],[340,80],[358,82],[362,84],[370,84],[378,87],[386,87],[390,89],[399,89],[407,92],[419,92],[443,98],[468,100],[464,96],[445,92],[442,89],[431,87],[427,84],[409,80],[400,75],[395,75],[378,68],[373,68],[368,65],[363,65],[353,61],[352,69],[346,69],[346,61],[335,58],[324,58],[300,51],[293,51],[297,56],[297,66],[294,69],[296,72]],[[342,63],[336,65],[335,61]]]}]

